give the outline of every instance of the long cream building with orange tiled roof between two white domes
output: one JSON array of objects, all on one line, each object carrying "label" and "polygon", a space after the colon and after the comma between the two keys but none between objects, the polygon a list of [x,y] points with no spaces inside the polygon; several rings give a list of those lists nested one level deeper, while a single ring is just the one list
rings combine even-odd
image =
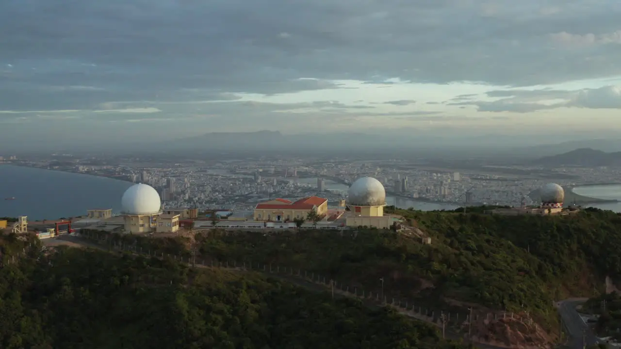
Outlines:
[{"label": "long cream building with orange tiled roof between two white domes", "polygon": [[296,218],[306,219],[309,212],[325,215],[328,212],[328,199],[317,196],[303,197],[297,201],[273,199],[255,206],[255,220],[291,222]]}]

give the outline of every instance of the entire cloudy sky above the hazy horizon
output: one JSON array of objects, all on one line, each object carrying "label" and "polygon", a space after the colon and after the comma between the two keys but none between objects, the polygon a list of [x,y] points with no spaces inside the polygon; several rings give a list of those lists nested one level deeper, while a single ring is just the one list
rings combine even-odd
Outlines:
[{"label": "entire cloudy sky above the hazy horizon", "polygon": [[617,132],[620,18],[616,0],[3,0],[0,130]]}]

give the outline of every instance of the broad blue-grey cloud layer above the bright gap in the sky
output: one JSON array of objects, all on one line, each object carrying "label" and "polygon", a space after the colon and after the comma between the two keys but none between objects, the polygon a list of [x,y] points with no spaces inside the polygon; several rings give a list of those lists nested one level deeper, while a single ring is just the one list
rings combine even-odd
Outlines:
[{"label": "broad blue-grey cloud layer above the bright gap in the sky", "polygon": [[[621,74],[621,2],[517,4],[0,1],[0,104],[93,109],[198,101],[188,90],[209,100],[342,88],[334,79],[529,86]],[[582,37],[594,38],[589,50],[567,45]]]}]

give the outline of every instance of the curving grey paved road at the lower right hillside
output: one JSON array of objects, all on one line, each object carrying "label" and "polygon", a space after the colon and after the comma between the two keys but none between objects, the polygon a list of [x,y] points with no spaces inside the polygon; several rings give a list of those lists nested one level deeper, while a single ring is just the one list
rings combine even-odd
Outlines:
[{"label": "curving grey paved road at the lower right hillside", "polygon": [[[576,306],[584,303],[585,299],[570,299],[558,302],[558,312],[561,314],[563,324],[569,334],[568,345],[572,349],[582,349],[584,345],[594,345],[599,343],[597,337],[589,329],[589,326],[582,320]],[[586,342],[586,343],[584,343]]]}]

